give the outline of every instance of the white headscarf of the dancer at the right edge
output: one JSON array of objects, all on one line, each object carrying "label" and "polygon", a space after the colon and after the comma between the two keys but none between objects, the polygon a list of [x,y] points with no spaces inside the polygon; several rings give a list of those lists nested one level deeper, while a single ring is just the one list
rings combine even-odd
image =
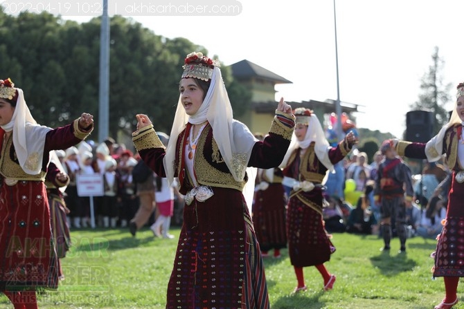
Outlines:
[{"label": "white headscarf of the dancer at the right edge", "polygon": [[[461,118],[458,115],[458,100],[460,97],[464,96],[464,82],[461,82],[456,86],[456,104],[454,104],[453,112],[449,118],[449,122],[440,129],[437,135],[434,138],[429,140],[425,145],[425,155],[429,162],[436,162],[442,157],[443,151],[443,138],[445,138],[445,133],[449,127],[454,126],[455,124],[463,124]],[[452,168],[450,166],[450,168]]]}]

